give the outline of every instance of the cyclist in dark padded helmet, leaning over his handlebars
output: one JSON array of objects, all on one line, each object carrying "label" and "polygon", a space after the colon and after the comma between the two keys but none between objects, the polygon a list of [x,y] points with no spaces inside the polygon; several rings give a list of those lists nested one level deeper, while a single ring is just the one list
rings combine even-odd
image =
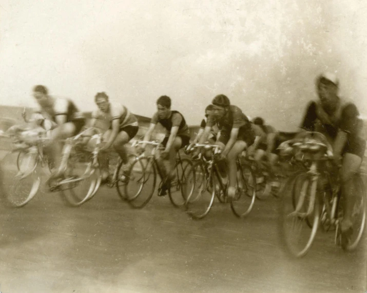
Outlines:
[{"label": "cyclist in dark padded helmet, leaning over his handlebars", "polygon": [[239,107],[230,105],[226,95],[219,94],[215,96],[211,104],[213,104],[214,110],[208,116],[199,143],[202,144],[207,141],[211,128],[218,124],[219,133],[216,144],[222,149],[221,158],[228,163],[227,197],[231,200],[236,195],[237,157],[246,146],[250,146],[255,142],[255,133],[247,116]]}]

